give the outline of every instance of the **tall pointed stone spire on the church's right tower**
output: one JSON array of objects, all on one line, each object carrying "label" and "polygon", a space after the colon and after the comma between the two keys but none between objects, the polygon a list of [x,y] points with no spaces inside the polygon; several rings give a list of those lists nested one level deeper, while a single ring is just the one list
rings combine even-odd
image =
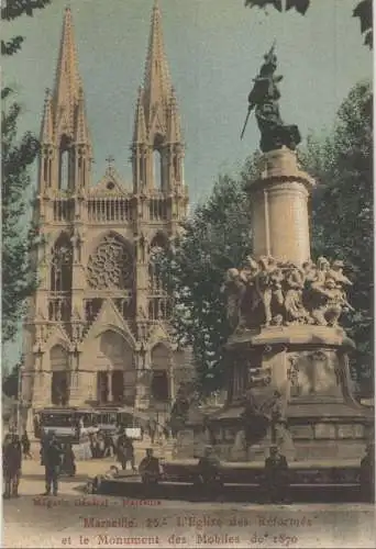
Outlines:
[{"label": "tall pointed stone spire on the church's right tower", "polygon": [[150,111],[156,103],[166,102],[168,100],[170,88],[172,85],[163,42],[162,15],[158,1],[155,0],[152,13],[144,80],[144,107],[147,117],[150,117]]}]

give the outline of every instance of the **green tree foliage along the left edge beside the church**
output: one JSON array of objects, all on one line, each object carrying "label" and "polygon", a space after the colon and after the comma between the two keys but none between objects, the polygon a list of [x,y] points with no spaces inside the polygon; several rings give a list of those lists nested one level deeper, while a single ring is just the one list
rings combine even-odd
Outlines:
[{"label": "green tree foliage along the left edge beside the church", "polygon": [[[8,0],[1,8],[1,20],[11,22],[35,10],[43,9],[51,0]],[[2,55],[13,55],[23,43],[22,36],[8,42],[1,41]],[[30,166],[38,152],[35,136],[26,132],[18,139],[16,127],[22,113],[13,99],[13,90],[1,90],[4,107],[1,115],[2,153],[2,340],[12,340],[18,332],[24,300],[34,288],[31,276],[29,253],[34,242],[35,231],[25,234],[24,216],[29,204],[27,191],[31,178]],[[10,104],[9,104],[10,103]]]}]

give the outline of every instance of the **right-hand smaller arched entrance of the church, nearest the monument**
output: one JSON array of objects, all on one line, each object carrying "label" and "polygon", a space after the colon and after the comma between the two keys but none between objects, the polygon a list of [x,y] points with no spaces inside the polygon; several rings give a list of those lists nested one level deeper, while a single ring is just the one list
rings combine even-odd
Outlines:
[{"label": "right-hand smaller arched entrance of the church, nearest the monument", "polygon": [[156,345],[152,350],[151,396],[154,403],[167,404],[170,397],[170,351],[163,345]]}]

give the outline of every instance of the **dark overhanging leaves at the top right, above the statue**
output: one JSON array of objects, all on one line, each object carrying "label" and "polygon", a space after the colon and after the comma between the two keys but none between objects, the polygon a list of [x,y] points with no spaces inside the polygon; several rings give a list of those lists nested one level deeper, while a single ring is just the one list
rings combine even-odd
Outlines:
[{"label": "dark overhanging leaves at the top right, above the statue", "polygon": [[[296,10],[301,15],[305,15],[312,0],[245,0],[245,5],[248,8],[268,7],[275,8],[277,11]],[[364,36],[364,44],[373,48],[373,10],[372,0],[361,0],[353,10],[353,18],[358,18],[361,22],[361,33]]]}]

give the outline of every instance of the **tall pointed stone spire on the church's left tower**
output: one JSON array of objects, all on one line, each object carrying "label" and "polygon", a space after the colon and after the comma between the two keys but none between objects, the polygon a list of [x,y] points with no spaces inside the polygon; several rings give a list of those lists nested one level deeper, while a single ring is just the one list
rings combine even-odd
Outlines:
[{"label": "tall pointed stone spire on the church's left tower", "polygon": [[[64,124],[73,133],[74,105],[77,103],[81,86],[78,72],[71,12],[66,8],[63,23],[60,51],[56,71],[55,107],[60,119],[64,112]],[[57,120],[59,123],[59,120]]]}]

